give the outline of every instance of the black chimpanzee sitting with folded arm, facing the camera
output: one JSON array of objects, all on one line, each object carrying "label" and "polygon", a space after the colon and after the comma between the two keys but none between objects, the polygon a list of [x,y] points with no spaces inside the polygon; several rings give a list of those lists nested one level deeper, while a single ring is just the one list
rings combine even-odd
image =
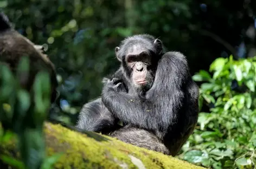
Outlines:
[{"label": "black chimpanzee sitting with folded arm, facing the camera", "polygon": [[115,50],[120,68],[104,79],[102,99],[84,105],[76,126],[176,155],[199,113],[199,89],[185,56],[164,53],[162,42],[151,35],[128,37]]}]

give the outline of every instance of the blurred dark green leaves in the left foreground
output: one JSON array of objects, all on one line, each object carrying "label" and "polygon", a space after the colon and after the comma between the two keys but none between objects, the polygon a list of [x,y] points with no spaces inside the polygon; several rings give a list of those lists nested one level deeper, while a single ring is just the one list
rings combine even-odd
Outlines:
[{"label": "blurred dark green leaves in the left foreground", "polygon": [[0,159],[17,168],[35,169],[42,164],[42,168],[49,168],[59,157],[45,159],[43,122],[50,107],[50,76],[44,71],[37,73],[33,90],[29,92],[21,87],[29,76],[29,69],[28,57],[22,57],[18,63],[16,75],[7,64],[0,62],[0,122],[3,127],[0,139],[9,141],[17,135],[22,162],[6,155],[1,155]]}]

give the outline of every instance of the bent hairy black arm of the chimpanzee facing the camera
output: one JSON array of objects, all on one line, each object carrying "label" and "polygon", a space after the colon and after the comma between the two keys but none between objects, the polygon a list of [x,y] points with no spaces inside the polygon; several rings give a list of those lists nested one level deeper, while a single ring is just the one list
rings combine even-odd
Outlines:
[{"label": "bent hairy black arm of the chimpanzee facing the camera", "polygon": [[145,100],[118,93],[113,80],[105,86],[102,100],[121,121],[163,137],[170,125],[177,121],[178,111],[184,104],[184,87],[188,80],[191,80],[191,76],[184,55],[169,52],[159,60],[155,82],[146,93]]}]

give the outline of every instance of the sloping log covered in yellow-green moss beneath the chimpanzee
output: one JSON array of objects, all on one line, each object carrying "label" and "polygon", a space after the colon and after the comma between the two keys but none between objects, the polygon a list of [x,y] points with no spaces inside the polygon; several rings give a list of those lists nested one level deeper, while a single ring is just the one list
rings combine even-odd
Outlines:
[{"label": "sloping log covered in yellow-green moss beneath the chimpanzee", "polygon": [[[47,155],[63,153],[54,168],[203,168],[106,135],[79,133],[60,124],[46,122],[44,133]],[[0,153],[18,158],[16,145],[17,140],[11,139],[0,145]]]}]

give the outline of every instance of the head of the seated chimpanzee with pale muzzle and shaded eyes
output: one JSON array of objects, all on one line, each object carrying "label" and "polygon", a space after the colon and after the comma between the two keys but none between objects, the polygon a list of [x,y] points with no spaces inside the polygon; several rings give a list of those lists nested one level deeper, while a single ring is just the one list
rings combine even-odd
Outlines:
[{"label": "head of the seated chimpanzee with pale muzzle and shaded eyes", "polygon": [[134,35],[122,41],[115,50],[131,85],[137,90],[149,90],[162,56],[162,42],[151,35]]}]

